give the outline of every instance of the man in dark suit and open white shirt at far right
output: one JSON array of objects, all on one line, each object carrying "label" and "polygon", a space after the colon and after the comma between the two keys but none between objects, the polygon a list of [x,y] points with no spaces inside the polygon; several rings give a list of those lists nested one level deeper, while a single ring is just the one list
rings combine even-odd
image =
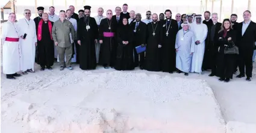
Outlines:
[{"label": "man in dark suit and open white shirt at far right", "polygon": [[[239,46],[239,70],[237,78],[245,77],[251,81],[252,77],[252,55],[256,41],[256,23],[251,21],[251,11],[243,13],[244,21],[237,25],[237,44]],[[245,72],[246,69],[246,72]]]}]

